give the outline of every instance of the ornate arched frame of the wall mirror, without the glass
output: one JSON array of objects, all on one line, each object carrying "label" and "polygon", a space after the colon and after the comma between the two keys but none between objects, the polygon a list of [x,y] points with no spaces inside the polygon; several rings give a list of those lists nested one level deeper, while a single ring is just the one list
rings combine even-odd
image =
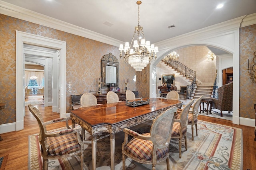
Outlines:
[{"label": "ornate arched frame of the wall mirror, without the glass", "polygon": [[112,53],[109,53],[101,59],[101,88],[109,88],[109,83],[106,83],[106,66],[116,66],[116,87],[119,87],[119,62]]}]

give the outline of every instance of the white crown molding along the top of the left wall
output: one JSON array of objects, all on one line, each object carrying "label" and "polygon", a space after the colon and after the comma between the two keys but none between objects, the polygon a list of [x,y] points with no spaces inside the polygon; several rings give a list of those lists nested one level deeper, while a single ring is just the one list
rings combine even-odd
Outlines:
[{"label": "white crown molding along the top of the left wall", "polygon": [[88,29],[84,29],[82,27],[72,25],[64,21],[56,20],[55,18],[51,18],[45,15],[39,14],[37,12],[33,12],[31,10],[21,8],[19,6],[15,6],[13,4],[10,4],[1,0],[0,0],[0,14],[18,18],[20,20],[29,21],[39,25],[44,25],[46,27],[50,27],[53,29],[58,29],[60,31],[67,32],[67,33],[79,35],[81,37],[85,37],[88,39],[92,39],[92,40],[106,43],[109,45],[114,45],[116,47],[119,47],[120,44],[124,43],[120,40],[102,35],[100,33],[96,33],[94,31],[90,31]]}]

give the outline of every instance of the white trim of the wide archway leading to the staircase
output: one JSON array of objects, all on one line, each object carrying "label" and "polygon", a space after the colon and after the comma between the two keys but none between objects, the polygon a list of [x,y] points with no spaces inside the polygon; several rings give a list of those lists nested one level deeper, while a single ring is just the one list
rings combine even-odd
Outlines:
[{"label": "white trim of the wide archway leading to the staircase", "polygon": [[[227,51],[228,53],[233,55],[233,76],[237,77],[233,80],[233,123],[239,124],[239,25],[232,29],[228,29],[228,31],[216,31],[216,33],[212,33],[212,29],[209,32],[204,31],[200,36],[188,36],[188,34],[172,39],[168,39],[165,43],[159,43],[158,49],[160,49],[158,54],[158,59],[150,65],[150,98],[156,97],[156,64],[159,63],[164,56],[166,56],[171,51],[175,49],[180,49],[188,46],[195,45],[204,45],[211,46],[218,49],[222,49]],[[194,34],[194,33],[192,33]],[[210,34],[210,35],[208,35]],[[161,47],[162,45],[162,47]]]}]

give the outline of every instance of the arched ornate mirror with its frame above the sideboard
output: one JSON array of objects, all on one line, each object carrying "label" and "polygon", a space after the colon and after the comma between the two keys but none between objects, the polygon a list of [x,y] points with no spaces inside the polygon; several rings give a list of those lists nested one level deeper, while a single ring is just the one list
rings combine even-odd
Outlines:
[{"label": "arched ornate mirror with its frame above the sideboard", "polygon": [[109,88],[110,84],[119,87],[119,62],[112,53],[106,54],[101,59],[101,88]]}]

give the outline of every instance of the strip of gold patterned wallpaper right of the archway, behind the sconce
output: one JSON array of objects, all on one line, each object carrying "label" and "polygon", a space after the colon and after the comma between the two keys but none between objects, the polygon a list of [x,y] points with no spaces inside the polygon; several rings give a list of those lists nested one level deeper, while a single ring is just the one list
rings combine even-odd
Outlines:
[{"label": "strip of gold patterned wallpaper right of the archway, behind the sconce", "polygon": [[[255,119],[256,84],[252,84],[248,74],[248,59],[252,63],[256,51],[256,24],[240,28],[240,117]],[[249,68],[250,68],[249,64]],[[252,64],[253,65],[253,64]]]}]

